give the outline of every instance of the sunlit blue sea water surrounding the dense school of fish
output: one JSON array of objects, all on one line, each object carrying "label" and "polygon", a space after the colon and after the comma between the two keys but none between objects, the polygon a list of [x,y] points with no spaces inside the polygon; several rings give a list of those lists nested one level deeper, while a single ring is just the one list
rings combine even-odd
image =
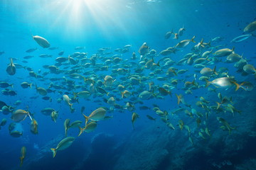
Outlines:
[{"label": "sunlit blue sea water surrounding the dense school of fish", "polygon": [[[230,88],[215,88],[216,92],[210,92],[205,88],[205,81],[200,81],[201,69],[195,69],[193,65],[181,64],[177,62],[192,52],[191,48],[201,41],[209,42],[213,38],[220,37],[220,42],[211,42],[213,52],[222,48],[235,47],[235,53],[242,55],[248,64],[256,66],[256,38],[254,36],[238,43],[231,43],[230,40],[243,33],[243,29],[252,21],[256,21],[256,1],[251,0],[225,0],[225,1],[199,1],[199,0],[1,0],[0,1],[0,81],[6,81],[14,84],[7,88],[16,91],[15,96],[6,96],[3,91],[0,101],[6,105],[13,106],[14,111],[23,109],[30,111],[38,122],[38,135],[30,132],[31,120],[18,123],[18,130],[23,132],[21,137],[13,137],[9,134],[9,125],[13,123],[11,114],[4,115],[0,112],[0,120],[7,119],[7,123],[1,126],[0,130],[0,169],[256,169],[256,116],[255,116],[255,89],[245,91],[242,88],[235,91],[234,86]],[[178,33],[178,29],[185,28],[183,35],[174,39],[165,39],[164,35],[171,30]],[[32,35],[40,35],[50,42],[50,47],[58,47],[56,50],[43,48],[33,40]],[[174,67],[178,70],[188,69],[184,74],[178,74],[174,77],[167,77],[164,81],[159,81],[156,77],[166,77],[164,62],[159,52],[168,47],[174,47],[181,40],[190,40],[196,36],[196,43],[190,43],[187,47],[180,48],[176,53],[171,53],[167,57],[174,60]],[[139,47],[146,42],[150,50],[156,50],[154,62],[159,62],[162,72],[149,76],[155,70],[145,69],[144,64],[139,64]],[[132,45],[129,52],[121,54],[122,61],[117,68],[129,69],[125,75],[113,74],[112,69],[115,64],[108,65],[107,71],[95,71],[95,67],[90,66],[83,69],[81,62],[76,64],[78,74],[84,77],[97,75],[95,81],[104,81],[106,75],[112,75],[116,79],[111,88],[101,86],[110,96],[114,96],[116,103],[122,108],[114,108],[111,112],[109,104],[105,102],[110,98],[106,94],[92,94],[90,98],[79,98],[78,102],[73,102],[74,113],[70,113],[69,106],[63,101],[64,93],[73,98],[73,92],[88,90],[89,84],[85,84],[83,79],[71,79],[65,71],[75,70],[74,65],[66,64],[58,66],[60,74],[49,73],[49,69],[44,65],[54,65],[55,58],[60,57],[58,53],[64,51],[62,57],[73,55],[74,52],[87,52],[87,58],[97,53],[102,47],[107,47],[112,52],[110,55],[98,55],[96,63],[104,64],[104,57],[120,55],[114,50],[123,48],[124,45]],[[220,47],[217,47],[221,45]],[[85,47],[82,50],[75,50],[75,47]],[[38,50],[28,53],[26,50],[37,48]],[[205,52],[210,49],[203,49]],[[137,55],[136,60],[132,60],[132,52]],[[47,54],[52,57],[42,58],[39,55]],[[33,55],[33,58],[25,60],[23,57]],[[6,67],[10,63],[9,58],[14,59],[16,64],[16,74],[10,76],[6,73]],[[151,59],[151,57],[146,57]],[[223,72],[218,71],[220,67],[228,69],[228,75],[235,77],[238,84],[244,81],[255,85],[255,74],[242,76],[238,69],[234,67],[235,62],[226,63],[225,57],[220,57],[220,62],[213,62],[206,67],[216,66],[218,76],[213,76],[209,80],[213,81],[220,77]],[[75,58],[81,60],[82,58]],[[213,60],[213,55],[209,55]],[[125,64],[135,62],[136,65]],[[68,62],[67,62],[68,63]],[[21,64],[23,68],[18,68]],[[100,65],[102,66],[102,65]],[[29,76],[28,67],[33,69],[39,77]],[[67,67],[67,68],[65,68]],[[139,74],[146,77],[146,80],[139,82],[139,85],[128,89],[129,77],[134,75],[134,70],[138,67],[144,69]],[[89,72],[88,72],[89,71]],[[75,73],[77,73],[75,72]],[[226,71],[224,71],[226,72]],[[84,74],[85,73],[85,74]],[[193,81],[196,74],[198,88],[191,89],[193,94],[185,94],[183,90],[186,81]],[[65,79],[75,81],[75,85],[80,85],[78,89],[67,89]],[[121,77],[127,77],[124,81]],[[225,76],[223,76],[225,77]],[[51,78],[59,78],[58,81],[51,81]],[[177,79],[178,84],[170,88],[171,96],[162,96],[159,99],[158,88],[164,83],[169,83],[171,79]],[[20,84],[23,81],[33,83],[32,88],[23,89]],[[148,83],[154,82],[154,94],[149,100],[140,100],[139,94],[144,90],[149,90]],[[47,96],[52,101],[43,100],[40,94],[36,92],[37,86],[48,89],[50,83],[59,85],[61,89],[50,88],[55,93],[48,93]],[[121,98],[119,92],[114,92],[117,85],[122,84],[133,93],[129,98]],[[225,111],[225,106],[220,106],[224,111],[215,111],[211,106],[216,106],[216,101],[220,102],[218,93],[222,96],[232,97],[232,106],[235,113]],[[191,108],[183,103],[177,104],[175,94],[183,94],[186,103],[191,108],[203,114],[203,117],[194,115],[193,118],[186,113],[174,113],[174,109],[185,108],[191,111]],[[156,95],[156,96],[155,96]],[[200,97],[206,98],[207,108],[196,106]],[[58,103],[57,99],[61,102]],[[132,101],[135,98],[135,101]],[[21,101],[21,105],[15,106],[16,101]],[[99,101],[98,103],[96,101]],[[125,103],[133,102],[134,111],[128,111],[124,108]],[[161,111],[167,111],[168,121],[174,125],[175,130],[166,126],[161,116],[153,111],[154,105],[159,106]],[[65,138],[63,123],[69,118],[71,122],[81,120],[81,127],[85,125],[85,118],[81,114],[82,106],[85,107],[84,114],[90,115],[92,111],[100,107],[107,109],[107,116],[113,116],[109,120],[100,120],[97,128],[90,133],[83,133],[78,137],[78,128],[70,128],[68,136],[75,137],[73,144],[63,151],[58,151],[56,157],[50,148],[55,148],[58,142]],[[140,106],[147,106],[149,109],[142,110]],[[43,115],[43,108],[54,108],[59,115],[56,123],[51,120],[49,115]],[[134,122],[132,128],[132,113],[139,114],[139,118]],[[208,112],[208,118],[206,118]],[[156,118],[149,120],[146,115]],[[235,127],[230,135],[228,130],[222,130],[223,125],[219,123],[217,117],[224,118]],[[196,119],[201,119],[201,125],[198,127]],[[184,127],[181,130],[178,121],[183,120],[184,125],[191,129],[191,135]],[[206,134],[206,127],[210,130],[210,136]],[[198,132],[202,132],[206,139],[203,139]],[[193,139],[193,145],[188,137]],[[23,165],[20,166],[19,157],[21,157],[21,147],[26,147],[26,156],[23,159]]]}]

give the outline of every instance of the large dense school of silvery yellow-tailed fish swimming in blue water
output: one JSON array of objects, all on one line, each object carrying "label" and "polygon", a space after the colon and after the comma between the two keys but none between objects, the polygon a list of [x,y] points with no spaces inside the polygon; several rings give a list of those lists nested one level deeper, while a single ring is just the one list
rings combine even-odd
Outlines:
[{"label": "large dense school of silvery yellow-tailed fish swimming in blue water", "polygon": [[[232,43],[242,42],[247,38],[254,38],[256,30],[256,21],[250,23],[244,28],[246,35],[240,35],[231,40]],[[249,81],[239,81],[228,72],[225,67],[218,67],[218,63],[233,64],[243,77],[255,77],[255,67],[250,64],[245,57],[235,52],[235,47],[213,46],[221,42],[221,38],[212,40],[202,39],[196,41],[196,35],[188,40],[181,40],[186,34],[186,29],[180,28],[177,33],[174,30],[167,32],[163,37],[167,40],[172,38],[176,45],[162,49],[154,50],[151,45],[144,42],[141,47],[136,47],[137,51],[132,51],[132,45],[124,45],[112,50],[110,47],[99,48],[95,54],[89,55],[88,52],[74,52],[65,54],[64,51],[58,52],[58,57],[53,55],[41,54],[38,57],[55,57],[52,65],[42,65],[38,72],[33,68],[26,66],[33,55],[23,57],[23,64],[15,63],[15,58],[9,59],[6,66],[6,76],[15,77],[18,69],[26,69],[31,81],[24,81],[21,84],[13,84],[11,81],[0,81],[2,88],[1,94],[7,97],[16,96],[16,86],[23,89],[36,91],[42,100],[57,103],[64,102],[72,113],[79,113],[80,120],[70,122],[66,119],[63,122],[63,135],[68,136],[70,128],[80,130],[77,137],[84,132],[93,132],[97,128],[97,123],[114,118],[117,113],[129,112],[131,114],[131,126],[136,130],[136,123],[139,123],[140,111],[146,110],[146,118],[152,121],[161,120],[166,128],[171,130],[188,131],[188,140],[193,145],[192,126],[186,124],[186,121],[178,120],[174,122],[172,117],[181,114],[196,123],[197,135],[202,140],[207,140],[211,136],[208,129],[207,120],[209,115],[216,114],[215,117],[220,123],[220,128],[226,130],[228,135],[232,134],[234,125],[230,125],[228,120],[221,118],[220,113],[230,113],[235,116],[241,113],[235,108],[230,96],[222,96],[221,89],[233,89],[236,91],[252,91],[253,84]],[[48,50],[58,50],[58,47],[50,47],[50,42],[38,35],[33,35],[38,45]],[[41,47],[26,50],[33,54]],[[191,47],[191,52],[183,54],[183,48]],[[85,51],[85,47],[75,47],[75,51]],[[3,55],[4,52],[1,53]],[[176,60],[177,55],[183,55],[183,58]],[[128,56],[128,57],[127,57]],[[186,69],[182,69],[186,66]],[[188,69],[193,70],[193,74],[187,74]],[[45,70],[43,72],[43,70]],[[58,74],[64,75],[58,77]],[[40,84],[44,81],[46,85]],[[39,86],[40,84],[40,86]],[[176,92],[177,86],[182,86],[183,93]],[[218,101],[211,101],[210,98],[199,96],[198,101],[186,100],[186,97],[193,95],[194,91],[202,89],[213,92],[218,97]],[[216,92],[216,89],[220,89]],[[58,98],[53,98],[52,93],[58,94]],[[35,98],[38,98],[35,96]],[[146,106],[147,100],[161,101],[171,96],[171,100],[176,100],[176,109],[163,110],[158,104]],[[176,96],[176,98],[173,98]],[[33,98],[31,98],[33,99]],[[92,108],[92,113],[88,114],[82,101],[91,101],[99,103],[98,108]],[[9,134],[12,137],[21,137],[23,132],[16,130],[16,123],[29,119],[31,121],[30,130],[38,135],[38,126],[40,121],[36,120],[36,115],[31,113],[33,108],[19,108],[21,102],[16,101],[12,106],[7,105],[5,101],[0,101],[1,113],[11,115],[10,120],[3,118],[0,123],[0,129],[9,122]],[[81,106],[81,113],[76,111],[74,106]],[[42,108],[41,113],[46,115],[56,123],[59,117],[59,111],[55,108]],[[85,112],[85,113],[84,113]],[[178,127],[178,128],[177,128]],[[29,127],[27,127],[29,128]],[[41,135],[41,134],[39,134]],[[49,148],[55,157],[57,151],[67,149],[74,142],[75,137],[65,137],[55,148]],[[21,166],[26,156],[26,147],[21,148]]]}]

